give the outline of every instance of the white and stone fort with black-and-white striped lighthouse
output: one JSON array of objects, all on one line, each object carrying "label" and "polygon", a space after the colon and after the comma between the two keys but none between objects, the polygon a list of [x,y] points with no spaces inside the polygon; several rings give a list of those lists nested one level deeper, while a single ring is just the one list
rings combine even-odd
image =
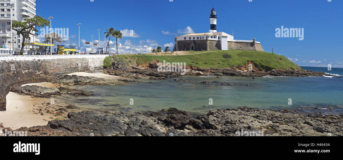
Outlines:
[{"label": "white and stone fort with black-and-white striped lighthouse", "polygon": [[264,51],[261,43],[255,38],[251,41],[234,40],[234,36],[225,32],[217,32],[217,15],[214,8],[210,15],[210,32],[190,33],[175,38],[174,51],[201,50],[250,50]]}]

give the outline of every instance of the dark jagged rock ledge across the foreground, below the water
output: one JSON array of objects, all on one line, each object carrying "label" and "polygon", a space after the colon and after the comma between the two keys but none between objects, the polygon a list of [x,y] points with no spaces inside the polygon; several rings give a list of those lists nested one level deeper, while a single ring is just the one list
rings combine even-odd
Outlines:
[{"label": "dark jagged rock ledge across the foreground, below the water", "polygon": [[197,118],[176,108],[157,113],[83,111],[68,118],[17,130],[28,131],[28,136],[236,136],[241,129],[263,131],[264,136],[343,136],[343,115],[304,116],[246,106],[211,110]]}]

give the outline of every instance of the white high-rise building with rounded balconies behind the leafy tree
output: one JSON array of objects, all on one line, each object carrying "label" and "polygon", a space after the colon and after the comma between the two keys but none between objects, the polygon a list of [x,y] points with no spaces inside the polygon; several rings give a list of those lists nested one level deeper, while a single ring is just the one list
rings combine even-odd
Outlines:
[{"label": "white high-rise building with rounded balconies behind the leafy tree", "polygon": [[[0,0],[0,46],[7,49],[11,46],[11,14],[12,22],[23,21],[27,18],[33,18],[36,15],[36,0]],[[9,7],[10,4],[14,7]],[[20,49],[22,38],[12,30],[12,48]],[[30,42],[40,42],[38,38],[31,37]],[[28,41],[27,41],[28,42]]]}]

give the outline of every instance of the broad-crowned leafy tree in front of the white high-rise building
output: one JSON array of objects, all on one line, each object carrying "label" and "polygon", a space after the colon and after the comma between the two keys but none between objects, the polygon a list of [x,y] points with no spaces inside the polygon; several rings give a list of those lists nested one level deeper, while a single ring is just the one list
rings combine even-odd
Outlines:
[{"label": "broad-crowned leafy tree in front of the white high-rise building", "polygon": [[30,40],[30,36],[37,36],[38,28],[43,28],[44,26],[50,26],[50,21],[36,15],[33,18],[24,19],[21,21],[14,21],[12,23],[12,29],[17,32],[17,35],[21,35],[23,38],[20,55],[24,53],[24,46],[26,39]]}]

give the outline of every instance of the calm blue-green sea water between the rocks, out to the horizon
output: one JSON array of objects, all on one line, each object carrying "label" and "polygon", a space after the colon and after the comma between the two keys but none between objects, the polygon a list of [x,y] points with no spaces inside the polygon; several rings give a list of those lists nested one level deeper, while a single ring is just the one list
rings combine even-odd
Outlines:
[{"label": "calm blue-green sea water between the rocks, out to the horizon", "polygon": [[[93,92],[95,96],[63,95],[61,100],[85,110],[111,108],[122,111],[160,111],[170,107],[193,114],[206,114],[211,109],[248,106],[258,109],[321,109],[323,113],[343,109],[343,68],[304,67],[316,72],[334,74],[329,77],[215,77],[184,76],[188,82],[173,79],[139,79],[131,85],[84,85],[72,86]],[[181,78],[176,78],[181,79]],[[201,81],[221,81],[201,84]],[[248,84],[248,85],[247,85]],[[133,105],[130,105],[130,102]],[[116,107],[118,106],[118,107]],[[329,110],[333,109],[333,110]]]}]

